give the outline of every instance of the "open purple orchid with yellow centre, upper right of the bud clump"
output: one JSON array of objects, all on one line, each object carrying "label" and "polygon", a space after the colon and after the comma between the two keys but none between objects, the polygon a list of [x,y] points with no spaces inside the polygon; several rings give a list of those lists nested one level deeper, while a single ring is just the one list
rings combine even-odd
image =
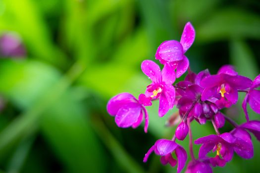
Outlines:
[{"label": "open purple orchid with yellow centre, upper right of the bud clump", "polygon": [[252,81],[244,76],[237,75],[231,65],[222,66],[217,75],[211,75],[201,81],[205,89],[202,101],[215,103],[219,108],[230,107],[238,100],[238,89],[251,87]]}]

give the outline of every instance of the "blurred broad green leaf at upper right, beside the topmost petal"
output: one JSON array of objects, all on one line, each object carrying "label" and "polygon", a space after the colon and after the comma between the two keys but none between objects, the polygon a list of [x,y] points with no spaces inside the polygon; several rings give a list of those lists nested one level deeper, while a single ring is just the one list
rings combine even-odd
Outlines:
[{"label": "blurred broad green leaf at upper right, beside the topmost petal", "polygon": [[260,39],[260,16],[239,8],[217,10],[196,28],[198,42],[227,39]]}]

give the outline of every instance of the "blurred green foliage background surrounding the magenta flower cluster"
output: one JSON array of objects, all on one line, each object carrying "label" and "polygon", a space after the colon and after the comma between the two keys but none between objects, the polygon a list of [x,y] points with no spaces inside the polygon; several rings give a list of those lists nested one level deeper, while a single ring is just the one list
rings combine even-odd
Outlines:
[{"label": "blurred green foliage background surrounding the magenta flower cluster", "polygon": [[[157,139],[172,137],[175,127],[164,125],[177,109],[159,118],[158,103],[149,107],[144,133],[116,127],[106,103],[120,92],[143,93],[150,80],[141,62],[155,60],[163,41],[180,40],[188,21],[194,72],[230,63],[251,79],[260,73],[259,0],[0,0],[0,171],[175,173],[155,154],[142,161]],[[237,123],[245,121],[240,96],[224,111]],[[192,130],[194,139],[214,133],[210,123]],[[234,155],[214,173],[259,172],[252,138],[253,159]],[[188,149],[188,138],[180,143]]]}]

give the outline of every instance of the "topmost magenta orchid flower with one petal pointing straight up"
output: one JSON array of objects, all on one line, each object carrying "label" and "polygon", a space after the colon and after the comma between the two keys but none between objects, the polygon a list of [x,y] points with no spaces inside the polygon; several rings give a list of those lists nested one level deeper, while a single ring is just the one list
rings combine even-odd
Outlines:
[{"label": "topmost magenta orchid flower with one petal pointing straight up", "polygon": [[188,22],[183,30],[181,41],[165,41],[161,43],[156,51],[156,59],[161,64],[169,64],[173,70],[176,69],[176,77],[179,78],[189,67],[189,60],[184,53],[190,48],[195,40],[195,30]]}]

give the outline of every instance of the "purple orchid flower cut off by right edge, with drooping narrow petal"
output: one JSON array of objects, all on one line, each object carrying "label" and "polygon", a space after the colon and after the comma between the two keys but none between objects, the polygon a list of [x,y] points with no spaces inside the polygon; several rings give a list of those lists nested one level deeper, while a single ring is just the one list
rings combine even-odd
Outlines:
[{"label": "purple orchid flower cut off by right edge, with drooping narrow petal", "polygon": [[260,75],[258,75],[253,81],[252,86],[250,87],[248,93],[245,96],[245,99],[242,103],[243,110],[246,114],[246,119],[249,121],[249,116],[247,112],[247,103],[249,103],[250,107],[258,114],[260,114],[260,90],[256,90],[255,88],[260,86]]}]

